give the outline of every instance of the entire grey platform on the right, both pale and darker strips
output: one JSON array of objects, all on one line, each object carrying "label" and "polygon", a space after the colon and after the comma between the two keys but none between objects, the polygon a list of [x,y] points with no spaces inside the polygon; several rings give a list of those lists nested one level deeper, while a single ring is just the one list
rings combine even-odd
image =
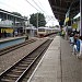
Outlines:
[{"label": "entire grey platform on the right, both pale and darker strips", "polygon": [[27,82],[82,82],[82,60],[67,39],[56,36]]}]

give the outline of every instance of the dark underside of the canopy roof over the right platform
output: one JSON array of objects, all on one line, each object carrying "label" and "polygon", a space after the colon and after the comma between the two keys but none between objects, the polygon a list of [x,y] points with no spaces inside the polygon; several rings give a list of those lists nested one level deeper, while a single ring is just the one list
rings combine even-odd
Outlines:
[{"label": "dark underside of the canopy roof over the right platform", "polygon": [[70,17],[72,19],[80,12],[80,0],[48,0],[55,17],[65,20],[66,13],[70,8]]}]

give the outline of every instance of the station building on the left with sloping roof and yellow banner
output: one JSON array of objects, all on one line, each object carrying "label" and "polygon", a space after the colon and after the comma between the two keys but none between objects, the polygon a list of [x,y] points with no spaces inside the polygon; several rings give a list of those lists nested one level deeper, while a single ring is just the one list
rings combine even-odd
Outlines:
[{"label": "station building on the left with sloping roof and yellow banner", "polygon": [[0,37],[14,36],[14,32],[19,35],[25,33],[25,21],[24,16],[14,15],[11,12],[0,9]]}]

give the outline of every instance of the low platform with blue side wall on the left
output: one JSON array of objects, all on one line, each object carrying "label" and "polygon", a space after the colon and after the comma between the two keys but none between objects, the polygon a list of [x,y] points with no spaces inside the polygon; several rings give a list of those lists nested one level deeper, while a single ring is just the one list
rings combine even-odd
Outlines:
[{"label": "low platform with blue side wall on the left", "polygon": [[0,38],[0,49],[25,42],[26,36]]}]

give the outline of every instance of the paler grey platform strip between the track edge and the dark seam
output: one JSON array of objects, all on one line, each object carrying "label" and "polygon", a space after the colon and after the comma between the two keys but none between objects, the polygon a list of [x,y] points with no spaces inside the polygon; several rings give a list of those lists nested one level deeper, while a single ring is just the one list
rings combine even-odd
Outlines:
[{"label": "paler grey platform strip between the track edge and the dark seam", "polygon": [[61,82],[60,37],[56,36],[27,82]]}]

